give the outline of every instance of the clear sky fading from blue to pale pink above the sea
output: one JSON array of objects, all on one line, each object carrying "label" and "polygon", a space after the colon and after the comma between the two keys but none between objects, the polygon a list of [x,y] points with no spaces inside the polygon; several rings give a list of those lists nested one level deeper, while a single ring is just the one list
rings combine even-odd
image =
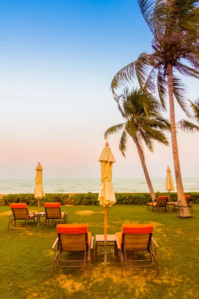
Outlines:
[{"label": "clear sky fading from blue to pale pink above the sea", "polygon": [[[111,80],[152,51],[137,1],[0,0],[0,11],[0,179],[32,178],[38,162],[44,178],[100,177],[103,133],[122,122]],[[199,83],[184,82],[196,100]],[[108,140],[113,177],[144,177],[132,140],[124,159],[119,139]],[[179,133],[178,146],[182,176],[199,177],[198,133]],[[174,172],[171,146],[145,156],[151,177]]]}]

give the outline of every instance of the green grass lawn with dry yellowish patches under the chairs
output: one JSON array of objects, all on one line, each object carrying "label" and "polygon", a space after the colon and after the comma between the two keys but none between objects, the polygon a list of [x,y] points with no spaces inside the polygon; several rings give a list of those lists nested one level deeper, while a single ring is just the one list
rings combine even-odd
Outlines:
[{"label": "green grass lawn with dry yellowish patches under the chairs", "polygon": [[[146,206],[115,205],[108,211],[108,234],[121,230],[122,223],[153,223],[159,245],[160,275],[156,268],[123,267],[108,248],[108,262],[102,266],[103,248],[98,263],[92,265],[91,281],[87,267],[56,267],[52,279],[53,253],[57,237],[55,226],[28,225],[28,229],[7,230],[9,206],[0,206],[0,299],[175,299],[199,298],[199,205],[193,205],[192,218],[179,219],[177,212],[152,212]],[[35,207],[29,207],[36,211]],[[65,206],[68,223],[88,223],[92,235],[103,234],[103,208]],[[43,211],[43,208],[41,208]]]}]

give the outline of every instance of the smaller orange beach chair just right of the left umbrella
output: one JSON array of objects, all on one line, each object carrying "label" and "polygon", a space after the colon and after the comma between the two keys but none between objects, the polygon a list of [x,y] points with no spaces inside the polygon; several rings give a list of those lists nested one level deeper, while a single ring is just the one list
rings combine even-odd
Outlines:
[{"label": "smaller orange beach chair just right of the left umbrella", "polygon": [[[44,224],[59,224],[62,223],[62,219],[64,219],[64,223],[67,221],[67,212],[61,212],[61,204],[60,202],[44,202],[45,208],[45,218],[43,220]],[[54,221],[57,219],[58,221]]]}]

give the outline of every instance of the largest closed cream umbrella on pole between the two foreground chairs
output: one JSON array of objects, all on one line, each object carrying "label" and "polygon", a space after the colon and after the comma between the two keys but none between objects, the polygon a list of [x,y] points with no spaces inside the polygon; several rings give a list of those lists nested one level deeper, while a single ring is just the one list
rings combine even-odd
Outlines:
[{"label": "largest closed cream umbrella on pole between the two foreground chairs", "polygon": [[101,184],[99,198],[100,205],[104,209],[104,265],[107,264],[107,206],[111,207],[116,202],[113,185],[111,182],[112,178],[112,164],[115,162],[114,156],[111,149],[108,147],[106,142],[105,148],[102,150],[100,155],[101,164]]}]

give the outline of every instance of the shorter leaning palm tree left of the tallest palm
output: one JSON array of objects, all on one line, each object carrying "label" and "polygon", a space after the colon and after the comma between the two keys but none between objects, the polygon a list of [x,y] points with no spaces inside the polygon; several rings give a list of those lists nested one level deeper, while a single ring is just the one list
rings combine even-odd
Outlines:
[{"label": "shorter leaning palm tree left of the tallest palm", "polygon": [[[118,109],[125,122],[106,130],[104,137],[107,139],[110,135],[123,130],[119,149],[124,157],[128,135],[133,139],[137,147],[152,201],[154,201],[156,200],[156,196],[145,163],[143,143],[152,152],[153,140],[168,146],[169,142],[162,131],[170,130],[170,124],[158,112],[162,108],[160,102],[151,95],[146,96],[142,89],[133,88],[132,92],[129,92],[129,89],[125,88],[120,96],[114,96],[114,100],[117,102]],[[147,115],[144,110],[144,103],[146,101],[149,106]]]}]

